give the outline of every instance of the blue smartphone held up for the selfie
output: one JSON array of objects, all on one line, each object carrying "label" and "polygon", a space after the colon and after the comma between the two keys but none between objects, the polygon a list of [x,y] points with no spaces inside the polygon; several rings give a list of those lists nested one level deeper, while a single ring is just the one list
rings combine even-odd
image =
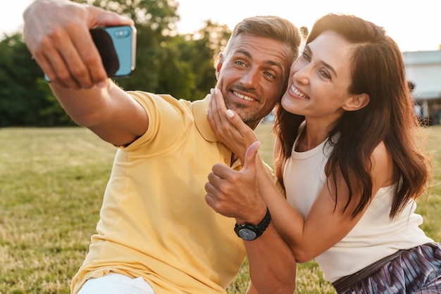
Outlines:
[{"label": "blue smartphone held up for the selfie", "polygon": [[[136,28],[130,25],[89,30],[108,77],[129,77],[136,64]],[[50,82],[44,75],[44,79]]]}]

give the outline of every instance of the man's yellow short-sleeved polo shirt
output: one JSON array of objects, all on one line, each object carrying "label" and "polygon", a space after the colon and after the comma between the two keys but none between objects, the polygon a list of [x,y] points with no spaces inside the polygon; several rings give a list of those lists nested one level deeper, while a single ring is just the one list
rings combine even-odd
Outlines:
[{"label": "man's yellow short-sleeved polo shirt", "polygon": [[[206,119],[208,99],[129,93],[147,111],[149,129],[118,148],[97,234],[72,292],[114,272],[142,276],[156,294],[225,293],[246,252],[235,219],[204,199],[211,167],[230,165],[231,158]],[[235,162],[233,168],[241,167]]]}]

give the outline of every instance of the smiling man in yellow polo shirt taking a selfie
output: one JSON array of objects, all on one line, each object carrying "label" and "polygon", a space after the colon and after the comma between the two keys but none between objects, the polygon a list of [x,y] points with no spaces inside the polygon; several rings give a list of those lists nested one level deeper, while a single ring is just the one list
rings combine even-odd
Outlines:
[{"label": "smiling man in yellow polo shirt taking a selfie", "polygon": [[[262,207],[225,217],[205,201],[215,163],[241,168],[210,128],[209,96],[190,103],[123,91],[108,79],[89,29],[132,20],[66,0],[36,0],[23,16],[26,44],[61,106],[118,146],[97,234],[72,292],[225,293],[247,253],[249,293],[292,293],[294,257]],[[253,129],[280,100],[300,39],[287,20],[249,18],[221,54],[217,87]],[[243,241],[236,222],[267,227]]]}]

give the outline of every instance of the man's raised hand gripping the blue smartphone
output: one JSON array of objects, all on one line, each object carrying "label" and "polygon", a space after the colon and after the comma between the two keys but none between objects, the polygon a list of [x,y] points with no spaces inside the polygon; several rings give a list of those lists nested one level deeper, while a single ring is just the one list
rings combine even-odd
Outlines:
[{"label": "man's raised hand gripping the blue smartphone", "polygon": [[32,57],[54,85],[67,89],[90,89],[108,78],[89,29],[134,24],[116,13],[65,0],[35,0],[23,18]]}]

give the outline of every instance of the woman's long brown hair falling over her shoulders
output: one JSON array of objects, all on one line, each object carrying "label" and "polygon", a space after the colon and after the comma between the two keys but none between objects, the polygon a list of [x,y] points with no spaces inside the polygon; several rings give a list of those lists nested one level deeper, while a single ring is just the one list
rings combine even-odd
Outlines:
[{"label": "woman's long brown hair falling over her shoulders", "polygon": [[[344,177],[349,187],[349,200],[344,210],[355,191],[361,191],[359,203],[352,212],[355,217],[373,197],[371,155],[384,141],[397,171],[397,188],[390,210],[393,219],[409,200],[421,196],[430,174],[430,160],[418,149],[414,136],[421,126],[413,110],[402,53],[383,27],[354,15],[328,14],[320,18],[313,25],[306,44],[327,30],[337,32],[356,45],[350,56],[352,84],[349,92],[366,93],[371,100],[361,110],[344,113],[331,126],[327,143],[333,146],[333,152],[325,172],[332,177],[335,188],[334,171],[340,170]],[[282,153],[277,160],[283,161],[291,156],[304,119],[278,107],[274,131],[282,143]],[[335,197],[337,203],[336,190]]]}]

